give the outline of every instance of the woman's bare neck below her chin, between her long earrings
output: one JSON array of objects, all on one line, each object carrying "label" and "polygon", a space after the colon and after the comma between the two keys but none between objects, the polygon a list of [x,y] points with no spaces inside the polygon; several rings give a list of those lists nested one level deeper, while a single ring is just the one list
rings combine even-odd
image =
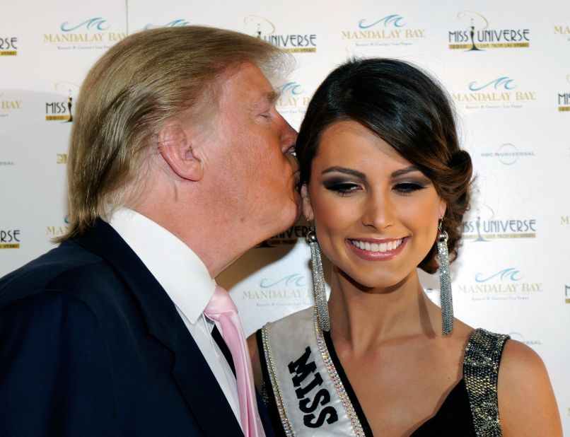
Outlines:
[{"label": "woman's bare neck below her chin, between her long earrings", "polygon": [[390,289],[365,289],[342,272],[332,272],[331,335],[354,354],[404,337],[436,337],[439,308],[424,293],[414,271]]}]

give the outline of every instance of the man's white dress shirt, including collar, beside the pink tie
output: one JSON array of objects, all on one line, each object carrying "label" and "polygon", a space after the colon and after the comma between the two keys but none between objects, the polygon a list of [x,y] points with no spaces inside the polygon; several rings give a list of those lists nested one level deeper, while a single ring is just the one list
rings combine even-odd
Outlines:
[{"label": "man's white dress shirt, including collar, beside the pink tie", "polygon": [[219,346],[211,337],[214,322],[204,316],[204,309],[216,289],[216,281],[211,278],[207,267],[192,249],[175,235],[132,209],[117,210],[109,224],[127,242],[172,299],[241,426],[235,376]]}]

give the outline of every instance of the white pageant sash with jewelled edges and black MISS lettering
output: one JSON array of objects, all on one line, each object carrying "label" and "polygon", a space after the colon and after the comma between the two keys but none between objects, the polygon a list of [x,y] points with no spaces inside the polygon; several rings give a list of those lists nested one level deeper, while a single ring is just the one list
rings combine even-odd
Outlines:
[{"label": "white pageant sash with jewelled edges and black MISS lettering", "polygon": [[314,307],[262,327],[277,409],[288,436],[364,436]]}]

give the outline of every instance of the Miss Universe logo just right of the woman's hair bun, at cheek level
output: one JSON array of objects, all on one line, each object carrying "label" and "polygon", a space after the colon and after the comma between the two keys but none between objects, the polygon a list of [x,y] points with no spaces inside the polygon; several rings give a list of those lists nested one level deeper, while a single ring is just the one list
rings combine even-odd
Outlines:
[{"label": "Miss Universe logo just right of the woman's hair bun, at cheek level", "polygon": [[536,219],[496,216],[486,204],[474,204],[463,222],[463,239],[472,243],[512,238],[536,238]]}]

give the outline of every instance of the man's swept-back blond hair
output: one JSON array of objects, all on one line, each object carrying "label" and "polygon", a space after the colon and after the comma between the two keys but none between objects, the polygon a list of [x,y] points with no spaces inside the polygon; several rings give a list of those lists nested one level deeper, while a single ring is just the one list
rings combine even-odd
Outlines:
[{"label": "man's swept-back blond hair", "polygon": [[272,77],[291,57],[255,37],[204,26],[143,30],[105,52],[78,96],[67,164],[69,228],[56,241],[132,202],[163,124],[211,109],[216,85],[244,62]]}]

